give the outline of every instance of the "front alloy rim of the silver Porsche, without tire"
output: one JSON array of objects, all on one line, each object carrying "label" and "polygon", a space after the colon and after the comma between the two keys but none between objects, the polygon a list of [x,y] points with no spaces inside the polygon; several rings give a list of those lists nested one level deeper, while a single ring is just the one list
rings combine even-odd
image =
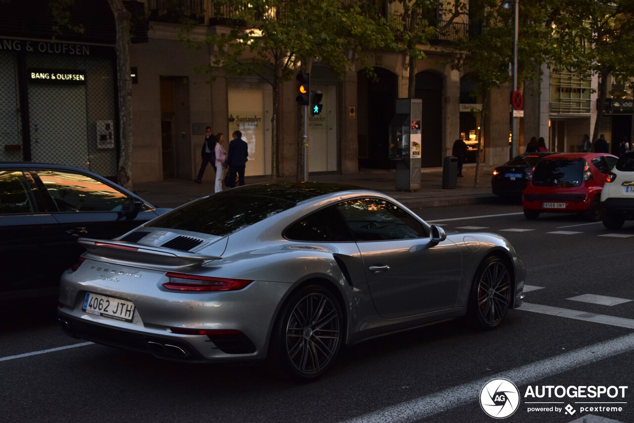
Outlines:
[{"label": "front alloy rim of the silver Porsche, without tire", "polygon": [[482,272],[477,287],[477,308],[487,325],[496,326],[510,304],[510,275],[499,260],[489,263]]}]

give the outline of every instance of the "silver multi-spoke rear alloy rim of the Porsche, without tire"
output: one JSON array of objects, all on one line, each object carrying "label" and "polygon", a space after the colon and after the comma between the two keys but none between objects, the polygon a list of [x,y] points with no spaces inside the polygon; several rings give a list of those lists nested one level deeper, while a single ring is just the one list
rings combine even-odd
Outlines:
[{"label": "silver multi-spoke rear alloy rim of the Porsche, without tire", "polygon": [[302,375],[325,369],[339,350],[341,316],[333,300],[310,293],[295,304],[286,327],[286,352]]}]

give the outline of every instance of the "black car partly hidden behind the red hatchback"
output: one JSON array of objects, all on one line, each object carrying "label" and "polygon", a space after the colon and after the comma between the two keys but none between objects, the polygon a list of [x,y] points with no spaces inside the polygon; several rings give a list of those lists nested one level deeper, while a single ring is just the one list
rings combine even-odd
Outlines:
[{"label": "black car partly hidden behind the red hatchback", "polygon": [[535,164],[549,154],[557,153],[524,153],[496,167],[493,171],[493,178],[491,178],[493,194],[501,197],[521,198]]}]

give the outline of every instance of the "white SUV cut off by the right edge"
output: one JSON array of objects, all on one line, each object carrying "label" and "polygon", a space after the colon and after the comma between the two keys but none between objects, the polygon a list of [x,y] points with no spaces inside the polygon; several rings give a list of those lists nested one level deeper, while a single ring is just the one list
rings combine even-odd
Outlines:
[{"label": "white SUV cut off by the right edge", "polygon": [[634,150],[623,153],[605,175],[601,207],[607,229],[619,229],[625,220],[634,220]]}]

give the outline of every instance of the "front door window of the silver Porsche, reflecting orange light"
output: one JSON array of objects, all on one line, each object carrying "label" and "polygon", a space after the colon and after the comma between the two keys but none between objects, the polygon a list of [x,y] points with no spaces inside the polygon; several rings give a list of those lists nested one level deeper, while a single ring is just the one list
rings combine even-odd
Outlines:
[{"label": "front door window of the silver Porsche, reflecting orange light", "polygon": [[381,198],[359,198],[337,205],[356,241],[424,238],[424,224],[399,206]]}]

